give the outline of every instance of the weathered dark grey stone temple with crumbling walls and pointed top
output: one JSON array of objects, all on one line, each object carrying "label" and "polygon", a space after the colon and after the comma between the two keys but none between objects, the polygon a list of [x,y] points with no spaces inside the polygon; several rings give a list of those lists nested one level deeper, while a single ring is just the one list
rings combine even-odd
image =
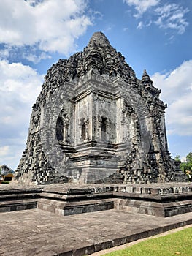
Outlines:
[{"label": "weathered dark grey stone temple with crumbling walls and pointed top", "polygon": [[16,170],[25,184],[186,181],[170,157],[160,90],[101,32],[48,70]]}]

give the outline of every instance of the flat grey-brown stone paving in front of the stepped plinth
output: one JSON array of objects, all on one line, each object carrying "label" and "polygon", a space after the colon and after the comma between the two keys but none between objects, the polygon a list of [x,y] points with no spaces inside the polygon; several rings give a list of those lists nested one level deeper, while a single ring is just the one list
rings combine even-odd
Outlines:
[{"label": "flat grey-brown stone paving in front of the stepped plinth", "polygon": [[161,218],[108,210],[61,217],[34,209],[0,219],[0,255],[77,256],[192,224],[192,213]]}]

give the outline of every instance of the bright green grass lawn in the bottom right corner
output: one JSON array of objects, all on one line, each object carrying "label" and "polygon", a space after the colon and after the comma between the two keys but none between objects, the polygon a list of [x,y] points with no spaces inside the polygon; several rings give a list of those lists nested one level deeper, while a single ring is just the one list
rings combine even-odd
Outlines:
[{"label": "bright green grass lawn in the bottom right corner", "polygon": [[107,256],[192,256],[192,227],[107,253]]}]

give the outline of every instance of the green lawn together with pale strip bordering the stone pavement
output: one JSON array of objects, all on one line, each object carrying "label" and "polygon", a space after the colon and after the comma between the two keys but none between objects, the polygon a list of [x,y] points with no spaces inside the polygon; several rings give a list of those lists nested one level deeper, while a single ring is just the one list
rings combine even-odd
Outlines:
[{"label": "green lawn together with pale strip bordering the stone pavement", "polygon": [[[183,238],[187,236],[183,243]],[[175,247],[176,238],[180,245]],[[174,239],[174,240],[173,240]],[[171,244],[172,243],[172,244]],[[173,245],[173,246],[172,246]],[[146,246],[146,247],[145,247]],[[164,250],[162,250],[162,248]],[[168,250],[168,249],[169,250]],[[183,250],[185,249],[185,251]],[[104,249],[100,252],[95,252],[92,256],[171,256],[171,255],[192,255],[192,225],[178,227],[174,230],[169,230],[164,233],[150,236],[148,238],[138,239],[128,244]]]}]

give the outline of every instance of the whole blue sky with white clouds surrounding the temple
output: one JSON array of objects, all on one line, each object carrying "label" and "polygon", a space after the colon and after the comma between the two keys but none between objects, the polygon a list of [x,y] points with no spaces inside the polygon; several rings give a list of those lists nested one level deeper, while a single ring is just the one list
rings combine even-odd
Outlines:
[{"label": "whole blue sky with white clouds surrounding the temple", "polygon": [[31,107],[47,69],[83,50],[95,31],[142,77],[147,69],[168,104],[172,157],[192,151],[191,0],[0,1],[0,165],[18,166]]}]

